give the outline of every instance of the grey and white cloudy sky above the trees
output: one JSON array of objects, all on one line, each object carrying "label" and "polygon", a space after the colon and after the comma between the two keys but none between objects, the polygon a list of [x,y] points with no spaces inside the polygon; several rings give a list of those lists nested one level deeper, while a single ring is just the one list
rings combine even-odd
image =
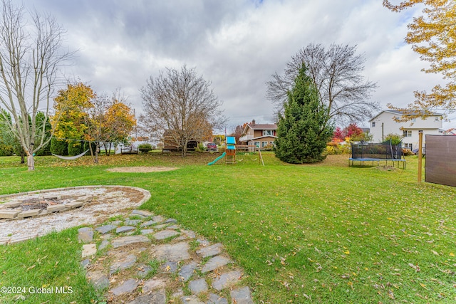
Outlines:
[{"label": "grey and white cloudy sky above the trees", "polygon": [[121,88],[137,113],[147,78],[186,64],[212,81],[228,128],[273,122],[266,81],[309,43],[357,45],[383,108],[411,103],[414,90],[441,82],[420,72],[425,63],[403,42],[419,7],[397,14],[381,0],[14,1],[66,29],[69,49],[78,50],[66,77],[97,93]]}]

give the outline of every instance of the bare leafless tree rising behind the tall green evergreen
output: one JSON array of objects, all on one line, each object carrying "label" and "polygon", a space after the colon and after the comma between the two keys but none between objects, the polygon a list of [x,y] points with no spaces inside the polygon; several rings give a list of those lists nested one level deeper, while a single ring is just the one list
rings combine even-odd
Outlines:
[{"label": "bare leafless tree rising behind the tall green evergreen", "polygon": [[272,80],[266,83],[266,97],[272,100],[276,112],[283,112],[287,92],[304,64],[318,89],[321,103],[328,107],[331,120],[363,121],[378,110],[378,102],[370,100],[377,86],[361,75],[364,62],[363,56],[356,54],[356,46],[331,44],[325,49],[321,44],[309,44],[291,57],[284,75],[272,75]]}]

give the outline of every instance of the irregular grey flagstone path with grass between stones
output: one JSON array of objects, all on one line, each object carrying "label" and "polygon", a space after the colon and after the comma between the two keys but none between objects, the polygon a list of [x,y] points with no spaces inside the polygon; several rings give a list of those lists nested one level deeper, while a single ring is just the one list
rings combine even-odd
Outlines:
[{"label": "irregular grey flagstone path with grass between stones", "polygon": [[78,239],[81,266],[108,303],[254,303],[222,244],[198,238],[175,219],[133,210],[79,229]]}]

